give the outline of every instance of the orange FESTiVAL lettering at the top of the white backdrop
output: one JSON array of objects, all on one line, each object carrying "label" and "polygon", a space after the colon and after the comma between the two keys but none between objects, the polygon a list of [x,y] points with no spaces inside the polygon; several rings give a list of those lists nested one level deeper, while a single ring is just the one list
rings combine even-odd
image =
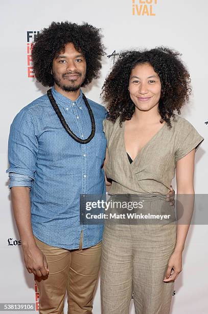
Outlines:
[{"label": "orange FESTiVAL lettering at the top of the white backdrop", "polygon": [[157,0],[132,0],[132,15],[155,16],[153,5],[156,4]]}]

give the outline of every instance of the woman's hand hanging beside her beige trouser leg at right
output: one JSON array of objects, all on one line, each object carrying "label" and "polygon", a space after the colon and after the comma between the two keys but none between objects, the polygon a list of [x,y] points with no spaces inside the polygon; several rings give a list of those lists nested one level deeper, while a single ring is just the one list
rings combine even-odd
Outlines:
[{"label": "woman's hand hanging beside her beige trouser leg at right", "polygon": [[173,282],[182,270],[182,252],[174,251],[168,261],[164,282]]}]

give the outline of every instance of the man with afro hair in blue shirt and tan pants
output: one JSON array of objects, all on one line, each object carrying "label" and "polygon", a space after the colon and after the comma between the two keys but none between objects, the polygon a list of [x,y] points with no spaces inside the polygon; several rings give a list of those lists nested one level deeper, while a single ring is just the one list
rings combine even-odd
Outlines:
[{"label": "man with afro hair in blue shirt and tan pants", "polygon": [[81,87],[99,76],[100,30],[53,22],[36,37],[35,77],[52,87],[16,115],[9,136],[11,198],[40,313],[91,313],[103,225],[80,222],[80,194],[105,194],[103,106]]}]

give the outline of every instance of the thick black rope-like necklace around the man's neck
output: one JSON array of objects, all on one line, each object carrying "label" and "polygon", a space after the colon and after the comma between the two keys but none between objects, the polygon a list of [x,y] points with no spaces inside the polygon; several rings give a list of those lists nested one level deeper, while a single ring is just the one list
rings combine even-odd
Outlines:
[{"label": "thick black rope-like necklace around the man's neck", "polygon": [[83,100],[84,100],[84,103],[88,109],[88,112],[89,112],[89,116],[90,116],[90,120],[91,120],[91,134],[88,136],[88,138],[86,140],[82,140],[80,138],[78,138],[78,136],[72,132],[72,130],[70,129],[70,127],[67,125],[67,123],[65,122],[65,119],[54,99],[54,96],[52,94],[52,89],[49,89],[47,91],[47,95],[49,97],[49,100],[50,100],[50,103],[52,104],[52,107],[54,108],[56,114],[58,115],[59,117],[59,120],[62,124],[62,126],[64,127],[64,129],[66,130],[66,132],[72,136],[72,138],[77,141],[78,143],[81,143],[81,144],[87,144],[89,143],[93,138],[94,138],[94,135],[95,135],[95,131],[96,131],[96,124],[95,124],[95,118],[94,118],[94,115],[93,115],[93,111],[91,110],[90,106],[89,106],[89,103],[85,97],[84,94],[82,94],[82,97],[83,97]]}]

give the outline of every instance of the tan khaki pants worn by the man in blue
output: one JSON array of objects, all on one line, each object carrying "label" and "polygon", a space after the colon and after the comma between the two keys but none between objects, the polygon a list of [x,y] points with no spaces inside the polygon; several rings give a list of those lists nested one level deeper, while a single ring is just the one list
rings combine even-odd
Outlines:
[{"label": "tan khaki pants worn by the man in blue", "polygon": [[47,279],[35,277],[40,292],[40,314],[63,314],[67,290],[68,313],[91,314],[93,294],[98,279],[102,242],[82,249],[82,233],[78,250],[49,246],[37,238],[35,242],[49,265]]}]

